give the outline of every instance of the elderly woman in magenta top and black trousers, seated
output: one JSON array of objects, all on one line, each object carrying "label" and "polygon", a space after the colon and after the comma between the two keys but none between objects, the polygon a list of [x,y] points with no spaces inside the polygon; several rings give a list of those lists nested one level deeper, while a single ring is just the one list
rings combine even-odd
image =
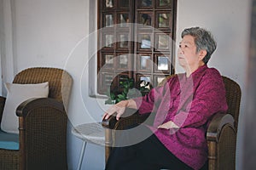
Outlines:
[{"label": "elderly woman in magenta top and black trousers, seated", "polygon": [[[116,147],[109,156],[106,169],[200,169],[207,162],[207,123],[218,111],[227,111],[224,82],[219,72],[207,66],[216,48],[211,33],[199,27],[185,29],[179,42],[177,59],[185,71],[171,77],[164,86],[153,88],[148,95],[113,105],[103,116],[125,108],[139,114],[154,113],[154,122],[143,133],[130,134],[142,138],[131,145]],[[125,142],[130,137],[122,137]]]}]

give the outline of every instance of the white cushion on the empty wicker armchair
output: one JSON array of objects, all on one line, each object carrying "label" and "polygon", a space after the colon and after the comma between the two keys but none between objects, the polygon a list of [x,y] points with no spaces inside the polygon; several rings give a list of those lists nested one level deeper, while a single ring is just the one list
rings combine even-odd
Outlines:
[{"label": "white cushion on the empty wicker armchair", "polygon": [[6,133],[19,133],[17,107],[26,99],[48,97],[49,83],[15,84],[6,82],[5,88],[7,89],[7,97],[3,108],[1,129]]}]

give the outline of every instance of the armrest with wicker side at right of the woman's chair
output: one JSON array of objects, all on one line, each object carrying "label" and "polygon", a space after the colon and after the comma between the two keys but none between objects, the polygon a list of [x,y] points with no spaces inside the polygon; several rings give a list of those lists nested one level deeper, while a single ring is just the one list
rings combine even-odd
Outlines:
[{"label": "armrest with wicker side at right of the woman's chair", "polygon": [[230,114],[217,113],[207,128],[208,169],[235,169],[236,128]]}]

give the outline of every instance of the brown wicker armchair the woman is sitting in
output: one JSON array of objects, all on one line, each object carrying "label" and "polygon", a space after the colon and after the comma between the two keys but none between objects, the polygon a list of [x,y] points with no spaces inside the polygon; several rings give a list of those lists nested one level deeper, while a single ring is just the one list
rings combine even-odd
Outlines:
[{"label": "brown wicker armchair the woman is sitting in", "polygon": [[[240,110],[241,89],[240,86],[230,78],[223,77],[223,80],[229,109],[225,114],[217,113],[213,116],[209,124],[207,129],[208,164],[202,167],[202,169],[236,169],[236,132]],[[131,113],[134,114],[131,115]],[[118,122],[114,116],[102,122],[102,126],[106,127],[106,161],[108,161],[108,156],[115,141],[115,130],[131,127],[147,119],[147,116],[140,116],[132,109],[126,109],[125,114],[128,116],[121,118]]]}]

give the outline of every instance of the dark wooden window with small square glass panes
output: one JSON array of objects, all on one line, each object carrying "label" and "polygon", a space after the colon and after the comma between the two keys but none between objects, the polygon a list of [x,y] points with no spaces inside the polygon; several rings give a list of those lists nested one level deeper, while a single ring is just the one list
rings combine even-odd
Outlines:
[{"label": "dark wooden window with small square glass panes", "polygon": [[177,0],[98,0],[98,94],[173,74]]}]

